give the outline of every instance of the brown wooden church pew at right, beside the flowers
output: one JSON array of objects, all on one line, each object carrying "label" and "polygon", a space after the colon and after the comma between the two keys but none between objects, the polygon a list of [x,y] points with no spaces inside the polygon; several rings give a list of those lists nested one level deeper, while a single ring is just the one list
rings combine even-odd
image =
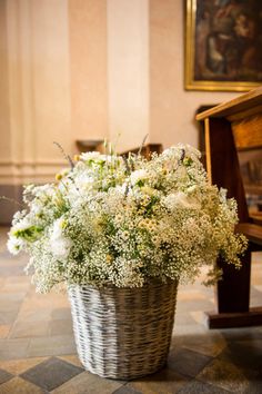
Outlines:
[{"label": "brown wooden church pew at right, beside the flowers", "polygon": [[[210,328],[262,324],[262,307],[250,308],[251,253],[262,249],[262,226],[252,223],[241,178],[238,150],[262,148],[262,87],[196,115],[204,121],[206,169],[210,181],[228,189],[239,206],[236,232],[249,238],[242,268],[224,264],[216,286],[218,313],[208,314]],[[262,299],[261,299],[262,305]]]}]

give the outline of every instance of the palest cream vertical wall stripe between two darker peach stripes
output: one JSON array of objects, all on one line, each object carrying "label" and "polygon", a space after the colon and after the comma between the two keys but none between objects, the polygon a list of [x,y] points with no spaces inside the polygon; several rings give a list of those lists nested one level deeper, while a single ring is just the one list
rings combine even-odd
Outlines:
[{"label": "palest cream vertical wall stripe between two darker peach stripes", "polygon": [[149,0],[108,0],[109,130],[118,150],[149,134]]}]

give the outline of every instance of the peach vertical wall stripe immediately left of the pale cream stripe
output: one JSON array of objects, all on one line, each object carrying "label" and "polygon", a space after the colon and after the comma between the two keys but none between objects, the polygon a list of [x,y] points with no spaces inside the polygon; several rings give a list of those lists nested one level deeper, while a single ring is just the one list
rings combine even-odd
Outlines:
[{"label": "peach vertical wall stripe immediately left of the pale cream stripe", "polygon": [[74,139],[108,137],[107,2],[69,0],[71,129]]}]

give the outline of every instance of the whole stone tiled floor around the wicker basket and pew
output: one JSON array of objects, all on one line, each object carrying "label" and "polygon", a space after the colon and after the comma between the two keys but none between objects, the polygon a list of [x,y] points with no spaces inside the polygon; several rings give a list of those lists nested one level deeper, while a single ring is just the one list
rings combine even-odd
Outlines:
[{"label": "whole stone tiled floor around the wicker basket and pew", "polygon": [[[39,295],[24,276],[27,256],[6,250],[0,232],[0,393],[262,393],[262,327],[209,331],[213,289],[200,280],[179,289],[168,366],[132,382],[83,370],[66,294]],[[262,305],[262,254],[252,262],[252,306]]]}]

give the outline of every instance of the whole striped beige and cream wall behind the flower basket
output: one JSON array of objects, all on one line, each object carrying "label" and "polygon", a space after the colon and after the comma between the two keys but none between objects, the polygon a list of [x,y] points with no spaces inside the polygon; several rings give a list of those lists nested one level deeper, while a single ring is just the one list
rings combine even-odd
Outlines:
[{"label": "whole striped beige and cream wall behind the flower basket", "polygon": [[195,109],[234,92],[183,89],[183,1],[0,1],[0,184],[53,179],[75,140],[196,146]]}]

